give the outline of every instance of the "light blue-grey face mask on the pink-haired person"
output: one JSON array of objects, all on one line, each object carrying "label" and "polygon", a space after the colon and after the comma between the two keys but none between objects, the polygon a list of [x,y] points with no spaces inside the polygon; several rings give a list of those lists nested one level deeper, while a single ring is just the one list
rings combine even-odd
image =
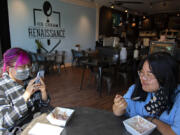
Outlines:
[{"label": "light blue-grey face mask on the pink-haired person", "polygon": [[18,69],[18,70],[16,70],[15,78],[17,80],[26,80],[29,77],[29,74],[30,74],[30,69],[29,68]]}]

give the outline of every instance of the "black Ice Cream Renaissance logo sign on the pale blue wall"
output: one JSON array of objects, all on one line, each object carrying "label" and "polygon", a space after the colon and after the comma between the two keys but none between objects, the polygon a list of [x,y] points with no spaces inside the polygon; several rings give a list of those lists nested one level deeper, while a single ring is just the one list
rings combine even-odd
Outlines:
[{"label": "black Ice Cream Renaissance logo sign on the pale blue wall", "polygon": [[[51,49],[48,50],[44,46],[41,48],[47,53],[54,51],[65,37],[65,30],[61,27],[60,12],[54,11],[50,2],[45,1],[42,8],[33,9],[33,23],[34,25],[28,28],[29,38],[34,39],[36,43],[39,40],[46,40]],[[56,44],[52,44],[51,40],[56,41]]]}]

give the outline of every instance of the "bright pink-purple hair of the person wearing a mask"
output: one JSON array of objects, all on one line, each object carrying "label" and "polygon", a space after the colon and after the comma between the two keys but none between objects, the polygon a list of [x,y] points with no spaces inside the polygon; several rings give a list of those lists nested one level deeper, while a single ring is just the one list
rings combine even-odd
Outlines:
[{"label": "bright pink-purple hair of the person wearing a mask", "polygon": [[7,70],[7,66],[13,66],[16,63],[17,66],[22,66],[31,62],[28,53],[21,48],[11,48],[8,49],[3,54],[3,72]]}]

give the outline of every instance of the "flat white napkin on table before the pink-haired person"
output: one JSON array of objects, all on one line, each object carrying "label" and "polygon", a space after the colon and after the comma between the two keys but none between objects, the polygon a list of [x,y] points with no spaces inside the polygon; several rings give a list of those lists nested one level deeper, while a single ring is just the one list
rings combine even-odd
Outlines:
[{"label": "flat white napkin on table before the pink-haired person", "polygon": [[63,128],[43,124],[43,123],[36,123],[31,130],[29,131],[29,135],[60,135],[63,131]]}]

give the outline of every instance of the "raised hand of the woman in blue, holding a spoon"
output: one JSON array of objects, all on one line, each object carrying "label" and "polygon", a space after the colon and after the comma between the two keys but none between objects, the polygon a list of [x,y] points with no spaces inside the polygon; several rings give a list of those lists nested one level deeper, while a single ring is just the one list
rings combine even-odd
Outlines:
[{"label": "raised hand of the woman in blue, holding a spoon", "polygon": [[121,116],[126,112],[126,100],[119,94],[116,94],[113,104],[113,113],[116,116]]}]

